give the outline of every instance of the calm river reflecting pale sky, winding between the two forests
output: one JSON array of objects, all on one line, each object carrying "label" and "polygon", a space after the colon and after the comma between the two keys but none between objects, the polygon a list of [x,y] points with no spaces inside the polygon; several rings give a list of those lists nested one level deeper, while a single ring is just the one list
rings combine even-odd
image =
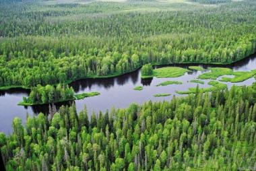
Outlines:
[{"label": "calm river reflecting pale sky, winding between the two forests", "polygon": [[[189,67],[189,65],[170,65],[177,67]],[[127,73],[113,78],[104,79],[82,79],[75,81],[70,85],[73,87],[76,93],[82,92],[100,92],[100,96],[94,96],[90,98],[85,98],[84,100],[75,100],[77,107],[77,112],[84,108],[86,104],[88,108],[88,114],[91,115],[92,111],[96,113],[99,110],[105,111],[110,110],[113,106],[115,108],[126,108],[129,104],[135,102],[142,104],[148,100],[152,101],[163,101],[170,100],[173,95],[182,96],[176,94],[175,91],[185,91],[188,88],[193,88],[197,86],[197,83],[189,82],[191,79],[197,79],[198,75],[203,72],[207,72],[207,67],[230,67],[235,71],[251,71],[256,69],[256,55],[252,55],[243,61],[238,61],[232,65],[218,66],[218,65],[199,65],[205,68],[205,71],[193,71],[191,73],[185,73],[185,75],[176,78],[156,78],[153,79],[141,79],[140,70],[133,71],[132,73]],[[163,66],[158,66],[163,67]],[[163,81],[174,80],[182,81],[182,85],[169,85],[169,86],[158,86],[158,83]],[[202,79],[203,80],[203,79]],[[205,83],[199,84],[200,88],[209,87],[207,83],[210,80],[203,80]],[[241,83],[235,83],[235,85],[251,85],[255,82],[255,78],[247,79]],[[223,82],[228,85],[228,88],[233,85],[233,83]],[[135,91],[133,88],[135,86],[143,86],[142,91]],[[166,97],[154,97],[154,94],[168,93],[171,96]],[[11,124],[13,118],[18,116],[22,118],[22,122],[26,122],[26,114],[38,114],[43,112],[45,114],[49,113],[49,105],[40,106],[18,106],[18,102],[22,101],[23,96],[28,96],[28,90],[22,89],[12,89],[8,91],[0,92],[0,131],[4,133],[11,133]],[[183,95],[185,96],[185,95]],[[63,103],[62,103],[63,104]],[[56,104],[57,108],[62,104]],[[71,104],[67,102],[64,104]]]}]

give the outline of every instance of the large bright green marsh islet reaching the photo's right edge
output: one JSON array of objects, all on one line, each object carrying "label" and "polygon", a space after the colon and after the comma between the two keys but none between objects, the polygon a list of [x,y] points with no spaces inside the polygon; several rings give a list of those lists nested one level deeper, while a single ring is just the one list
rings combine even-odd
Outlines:
[{"label": "large bright green marsh islet reaching the photo's right edge", "polygon": [[245,81],[254,75],[256,75],[256,70],[252,71],[232,71],[232,69],[229,68],[211,68],[211,72],[209,73],[203,73],[199,75],[199,79],[217,79],[218,77],[222,75],[234,75],[234,77],[222,77],[220,81],[230,81],[232,83],[238,83]]}]

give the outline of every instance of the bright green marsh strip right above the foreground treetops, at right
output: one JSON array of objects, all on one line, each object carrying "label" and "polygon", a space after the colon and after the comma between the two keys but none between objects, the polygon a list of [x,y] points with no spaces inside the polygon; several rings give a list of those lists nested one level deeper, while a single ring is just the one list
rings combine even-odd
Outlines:
[{"label": "bright green marsh strip right above the foreground treetops, at right", "polygon": [[198,86],[196,88],[189,88],[188,91],[177,91],[177,94],[195,94],[197,92],[212,92],[214,90],[224,90],[227,88],[226,84],[224,83],[220,83],[218,81],[210,81],[208,83],[210,86],[210,88],[199,88]]}]

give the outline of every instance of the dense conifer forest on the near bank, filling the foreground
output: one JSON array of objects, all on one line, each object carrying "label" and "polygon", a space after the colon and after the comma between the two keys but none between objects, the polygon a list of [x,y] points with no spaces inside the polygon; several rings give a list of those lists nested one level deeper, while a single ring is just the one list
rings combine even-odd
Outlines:
[{"label": "dense conifer forest on the near bank, filling the foreground", "polygon": [[0,133],[7,170],[251,170],[256,84],[131,104],[89,121],[86,106],[13,120]]}]

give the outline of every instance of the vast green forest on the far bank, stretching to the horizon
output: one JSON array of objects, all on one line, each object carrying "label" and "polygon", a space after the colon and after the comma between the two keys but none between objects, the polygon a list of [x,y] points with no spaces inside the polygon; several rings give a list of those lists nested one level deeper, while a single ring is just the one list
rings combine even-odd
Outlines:
[{"label": "vast green forest on the far bank, stretching to the horizon", "polygon": [[0,5],[5,89],[121,75],[146,63],[232,63],[256,51],[252,0],[9,3]]}]

